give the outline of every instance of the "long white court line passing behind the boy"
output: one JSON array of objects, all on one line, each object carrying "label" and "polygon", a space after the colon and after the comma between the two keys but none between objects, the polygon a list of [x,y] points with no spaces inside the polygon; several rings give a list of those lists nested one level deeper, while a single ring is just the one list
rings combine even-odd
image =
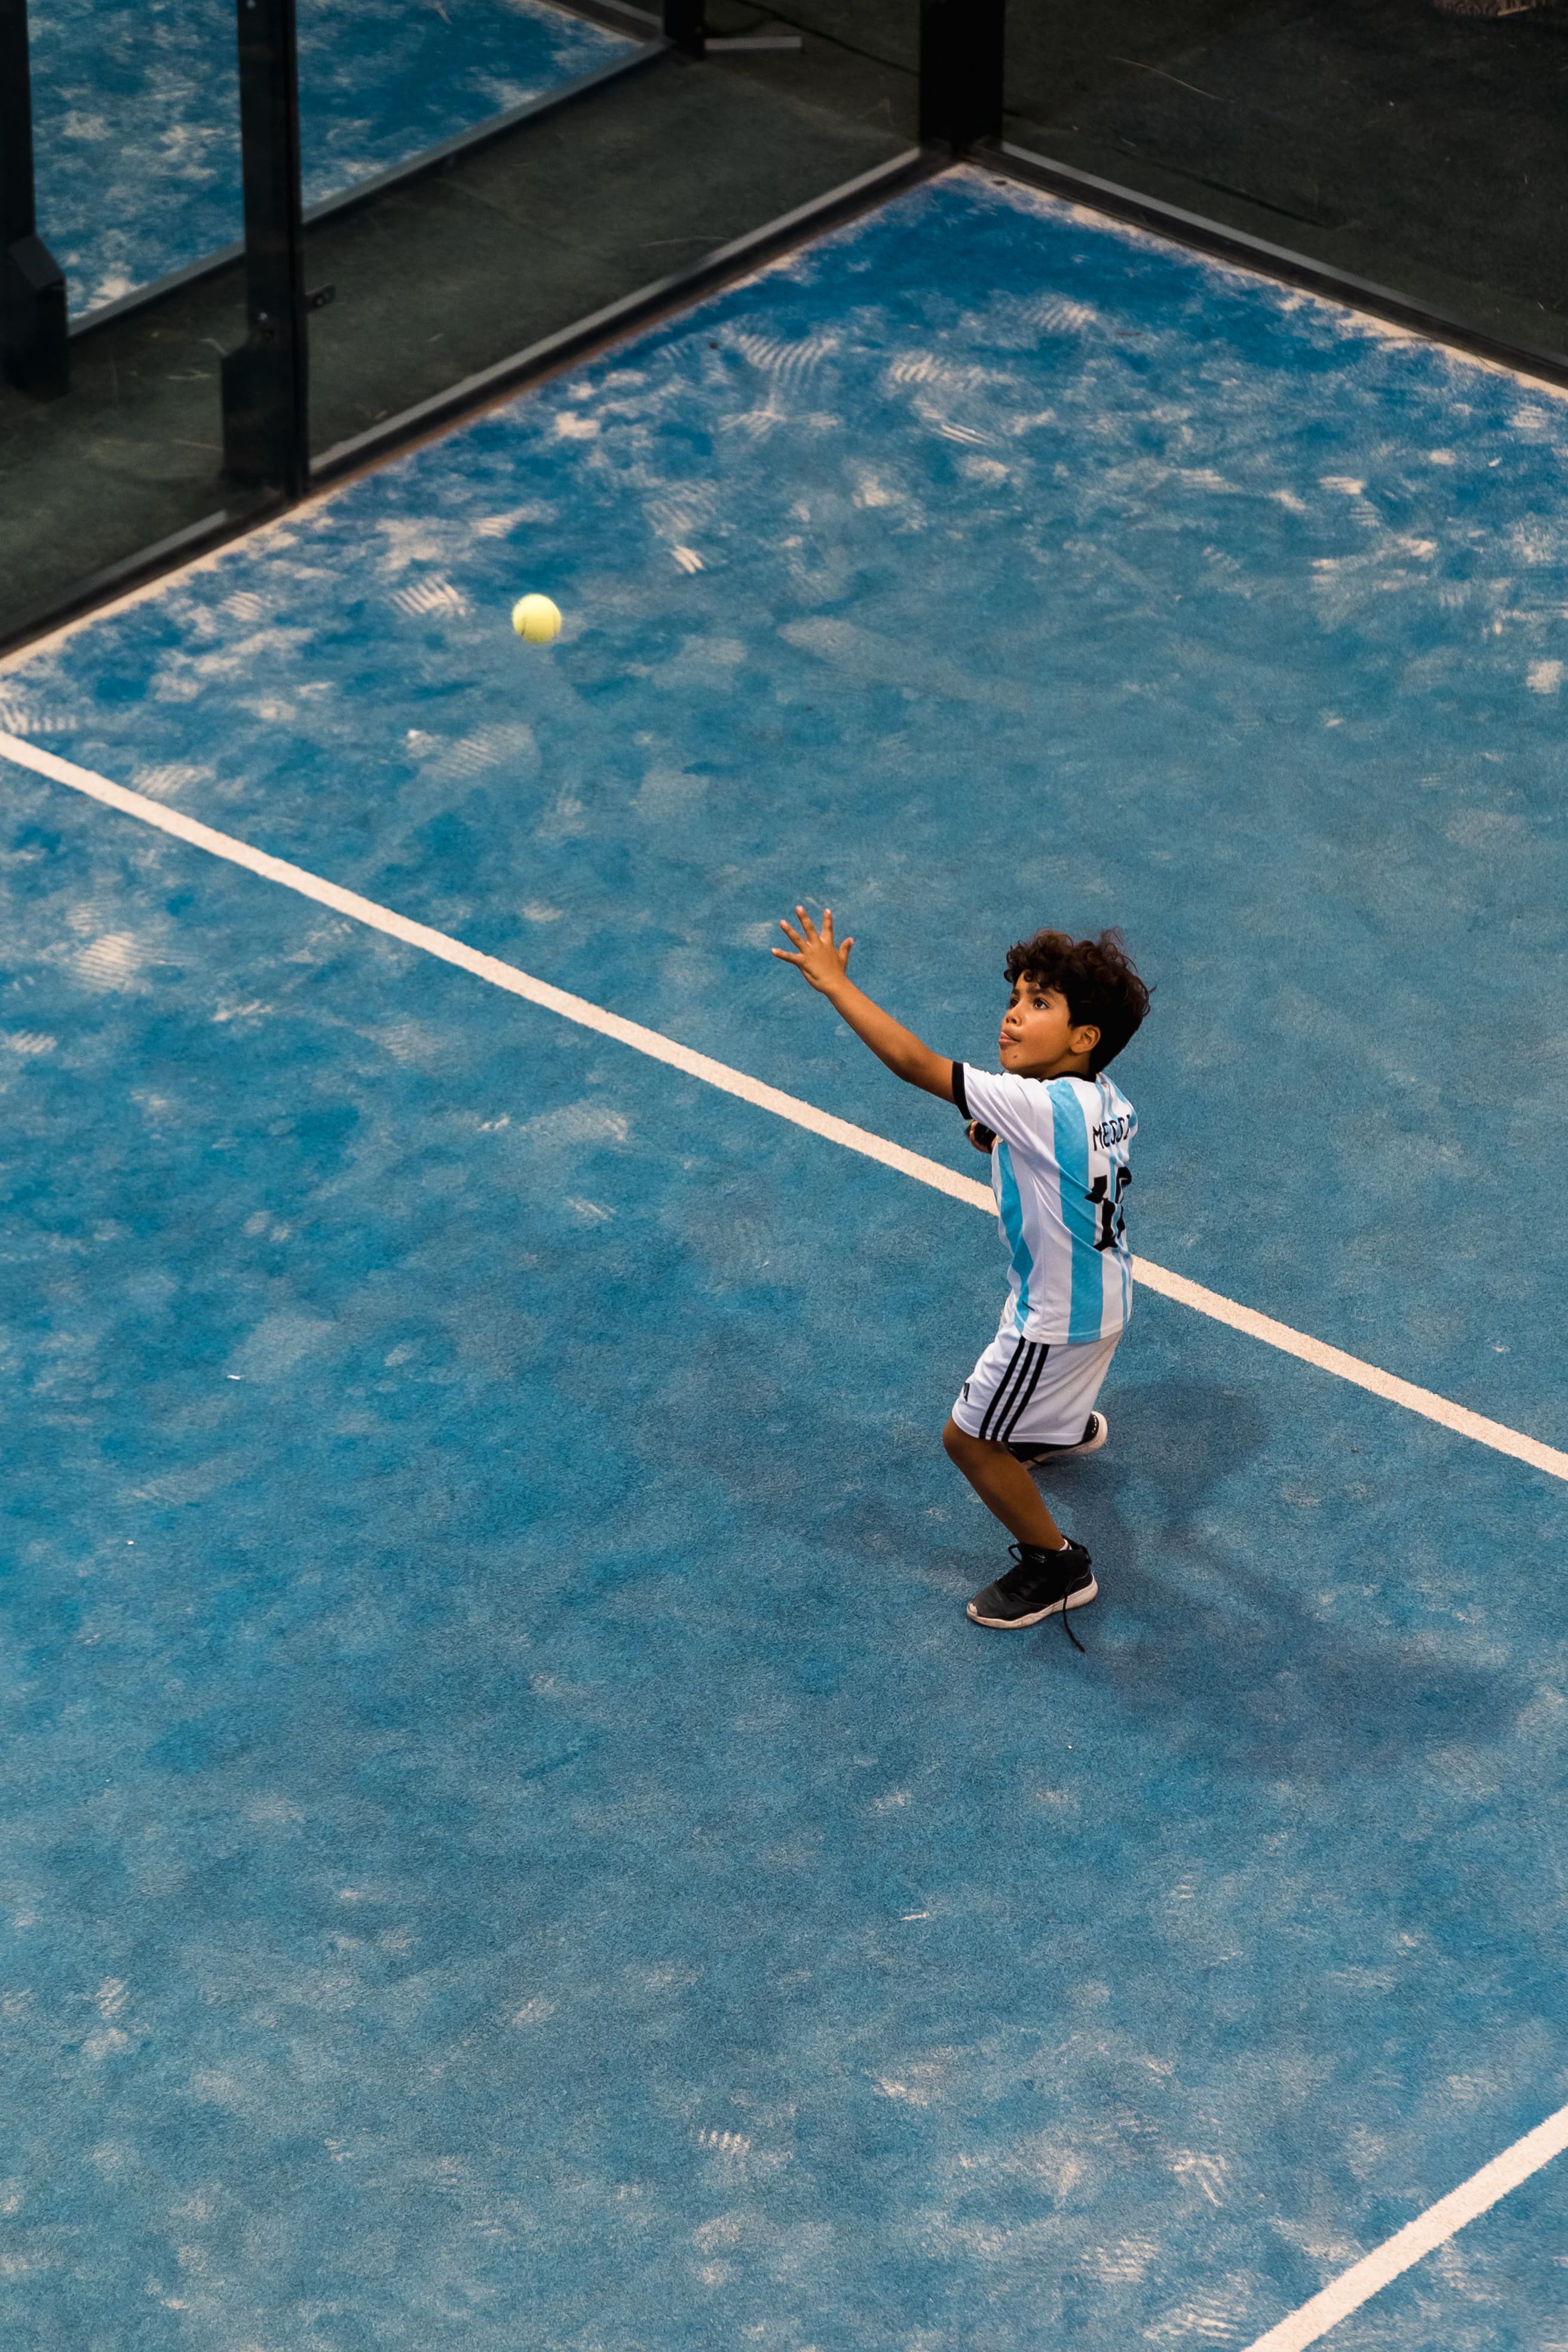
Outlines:
[{"label": "long white court line passing behind the boy", "polygon": [[[127,793],[122,783],[110,783],[108,776],[96,776],[89,767],[75,767],[71,760],[61,760],[52,750],[40,750],[35,743],[24,743],[21,736],[9,734],[0,734],[0,760],[14,760],[16,767],[28,767],[35,776],[68,783],[73,793],[85,793],[89,800],[103,802],[106,809],[136,816],[143,826],[158,826],[160,833],[172,833],[174,840],[190,842],[193,849],[207,849],[214,858],[228,858],[230,866],[244,866],[247,873],[261,875],[266,882],[280,882],[284,889],[299,891],[301,898],[315,898],[317,906],[329,906],[334,913],[348,915],[350,922],[362,922],[371,931],[386,931],[388,938],[402,938],[409,948],[423,948],[425,955],[437,955],[444,964],[473,971],[475,978],[489,981],[491,988],[505,988],[515,997],[527,997],[529,1004],[543,1004],[545,1011],[559,1014],[564,1021],[576,1021],[602,1037],[630,1044],[635,1054],[670,1063],[672,1070],[701,1077],[705,1087],[736,1094],[743,1103],[771,1110],[773,1117],[806,1127],[813,1136],[825,1136],[827,1143],[842,1143],[849,1152],[879,1160],[882,1167],[898,1169],[900,1176],[912,1176],[914,1183],[926,1183],[936,1192],[947,1192],[950,1200],[966,1200],[973,1209],[985,1209],[987,1216],[997,1211],[990,1185],[945,1169],[940,1160],[907,1152],[903,1143],[889,1143],[886,1136],[872,1136],[865,1127],[835,1120],[830,1110],[802,1103],[799,1096],[766,1087],[759,1077],[748,1077],[745,1070],[731,1070],[724,1061],[710,1061],[708,1054],[693,1054],[691,1047],[677,1044],[675,1037],[663,1037],[637,1021],[623,1021],[621,1014],[604,1011],[602,1004],[590,1004],[588,997],[574,997],[564,988],[536,981],[529,971],[520,971],[517,964],[503,964],[496,955],[480,955],[477,948],[465,948],[461,938],[433,931],[423,922],[409,922],[407,915],[395,915],[393,908],[376,906],[374,898],[360,898],[357,891],[339,889],[336,882],[324,882],[320,875],[306,873],[303,866],[289,866],[284,858],[268,856],[266,849],[237,842],[230,833],[214,833],[212,826],[202,826],[179,809],[165,809],[158,800]],[[1436,1421],[1458,1437],[1474,1437],[1476,1444],[1490,1446],[1495,1454],[1512,1454],[1514,1461],[1530,1463],[1530,1468],[1544,1470],[1547,1477],[1568,1479],[1568,1454],[1542,1444],[1540,1437],[1526,1437],[1521,1430],[1509,1430],[1500,1421],[1472,1414],[1469,1406],[1453,1404],[1429,1388],[1399,1381],[1392,1371],[1380,1371],[1378,1364],[1363,1364],[1359,1355],[1328,1348],[1307,1331],[1293,1331],[1291,1324],[1274,1322],[1272,1315],[1258,1315],[1255,1308],[1222,1298],[1220,1291],[1206,1291],[1201,1282],[1171,1275],[1164,1265],[1150,1265],[1147,1258],[1133,1258],[1133,1277],[1145,1289],[1159,1291],[1161,1298],[1175,1298],[1197,1315],[1229,1324],[1232,1331],[1246,1331],[1248,1338],[1260,1338],[1267,1348],[1279,1348],[1281,1355],[1293,1355],[1302,1364],[1314,1364],[1319,1371],[1331,1371],[1335,1378],[1349,1381],[1354,1388],[1366,1388],[1373,1397],[1403,1404],[1408,1414]]]}]

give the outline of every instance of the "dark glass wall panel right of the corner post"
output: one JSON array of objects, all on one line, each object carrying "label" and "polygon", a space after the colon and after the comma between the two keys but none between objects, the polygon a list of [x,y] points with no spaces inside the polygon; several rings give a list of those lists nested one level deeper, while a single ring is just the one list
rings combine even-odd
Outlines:
[{"label": "dark glass wall panel right of the corner post", "polygon": [[1009,141],[1568,353],[1568,12],[1009,0]]}]

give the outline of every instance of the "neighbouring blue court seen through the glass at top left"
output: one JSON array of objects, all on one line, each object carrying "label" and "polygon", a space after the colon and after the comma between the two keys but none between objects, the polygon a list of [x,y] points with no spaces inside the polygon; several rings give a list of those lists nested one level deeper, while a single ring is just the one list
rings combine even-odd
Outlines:
[{"label": "neighbouring blue court seen through the glass at top left", "polygon": [[[73,313],[233,245],[240,78],[230,0],[35,0],[38,216]],[[632,56],[548,0],[303,0],[306,205]]]}]

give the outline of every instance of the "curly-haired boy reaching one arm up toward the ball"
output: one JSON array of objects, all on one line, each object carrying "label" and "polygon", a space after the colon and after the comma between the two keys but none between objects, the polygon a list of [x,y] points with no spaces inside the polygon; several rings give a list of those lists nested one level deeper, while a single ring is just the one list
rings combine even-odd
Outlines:
[{"label": "curly-haired boy reaching one arm up toward the ball", "polygon": [[825,995],[839,1021],[910,1087],[957,1103],[969,1141],[990,1152],[1009,1247],[1009,1298],[997,1336],[964,1381],[943,1444],[985,1508],[1016,1538],[1013,1566],[976,1592],[976,1625],[1023,1628],[1095,1599],[1088,1552],[1063,1536],[1034,1484],[1037,1465],[1095,1454],[1110,1430],[1093,1404],[1133,1310],[1121,1195],[1133,1181],[1133,1105],[1105,1077],[1150,1009],[1121,936],[1037,931],[1009,948],[1011,985],[999,1073],[947,1061],[849,978],[849,950],[804,906],[773,948]]}]

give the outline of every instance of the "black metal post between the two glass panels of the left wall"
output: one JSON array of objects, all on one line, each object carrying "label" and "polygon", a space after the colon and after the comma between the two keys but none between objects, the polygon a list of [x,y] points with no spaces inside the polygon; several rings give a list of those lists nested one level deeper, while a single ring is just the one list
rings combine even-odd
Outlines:
[{"label": "black metal post between the two glass panels of the left wall", "polygon": [[237,16],[249,334],[223,360],[223,473],[299,499],[310,485],[310,341],[294,0],[237,0]]}]

